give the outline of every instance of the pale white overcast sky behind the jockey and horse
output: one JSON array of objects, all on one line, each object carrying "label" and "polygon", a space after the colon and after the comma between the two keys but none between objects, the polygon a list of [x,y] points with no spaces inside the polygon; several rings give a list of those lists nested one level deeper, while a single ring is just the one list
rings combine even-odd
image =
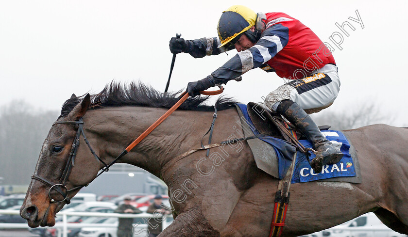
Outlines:
[{"label": "pale white overcast sky behind the jockey and horse", "polygon": [[[141,80],[164,91],[170,38],[177,32],[185,39],[216,36],[222,11],[235,4],[284,12],[334,47],[341,87],[327,110],[358,110],[374,101],[396,118],[393,125],[408,125],[407,0],[0,0],[0,106],[23,99],[59,110],[72,93],[97,93],[112,80]],[[356,10],[364,29],[349,19],[357,18]],[[355,27],[345,27],[348,37],[335,25],[344,21]],[[329,39],[335,32],[343,37],[342,50]],[[203,59],[178,54],[170,91],[203,79],[236,53]],[[259,102],[283,82],[254,69],[228,82],[225,94]]]}]

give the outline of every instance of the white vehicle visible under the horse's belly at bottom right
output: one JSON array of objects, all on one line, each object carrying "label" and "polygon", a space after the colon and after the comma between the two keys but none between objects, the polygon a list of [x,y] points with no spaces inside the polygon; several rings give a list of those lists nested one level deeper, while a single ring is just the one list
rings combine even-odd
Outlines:
[{"label": "white vehicle visible under the horse's belly at bottom right", "polygon": [[318,233],[323,237],[407,237],[388,228],[373,212]]}]

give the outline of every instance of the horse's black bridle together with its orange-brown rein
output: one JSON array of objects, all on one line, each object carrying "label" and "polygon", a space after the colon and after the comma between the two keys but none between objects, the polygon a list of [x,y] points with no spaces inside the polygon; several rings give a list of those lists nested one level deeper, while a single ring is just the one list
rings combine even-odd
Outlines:
[{"label": "horse's black bridle together with its orange-brown rein", "polygon": [[[205,92],[202,91],[200,92],[200,94],[202,95],[219,95],[224,91],[224,88],[222,86],[219,86],[220,90],[217,91],[212,91],[212,92]],[[116,161],[118,161],[120,158],[122,158],[124,155],[126,155],[129,151],[131,151],[139,142],[141,142],[147,135],[149,135],[149,133],[151,133],[153,131],[154,128],[156,128],[157,126],[159,126],[167,117],[170,116],[170,114],[172,112],[174,112],[178,107],[180,107],[180,105],[182,103],[184,103],[184,101],[187,100],[187,98],[189,97],[187,91],[183,92],[182,95],[180,95],[180,99],[177,101],[177,103],[175,103],[169,111],[167,111],[166,113],[164,113],[156,122],[154,122],[149,128],[147,128],[142,134],[140,134],[139,137],[136,138],[136,140],[134,142],[132,142],[128,147],[126,147],[125,150],[122,151],[122,153],[120,153],[120,155],[115,158],[112,162],[110,162],[109,164],[106,164],[101,158],[98,157],[98,155],[96,155],[95,151],[92,149],[90,143],[88,142],[88,139],[85,136],[84,133],[84,121],[81,118],[79,118],[78,121],[56,121],[52,124],[52,126],[57,125],[57,124],[72,124],[72,125],[78,125],[78,130],[77,130],[77,134],[75,136],[74,142],[72,143],[71,146],[71,151],[69,153],[68,156],[68,160],[67,160],[67,164],[65,165],[65,169],[64,172],[61,176],[61,178],[59,179],[57,184],[53,184],[52,182],[50,182],[49,180],[34,174],[33,176],[31,176],[32,179],[38,180],[44,184],[46,184],[47,186],[50,186],[50,189],[48,190],[48,197],[50,198],[50,202],[51,203],[62,203],[62,202],[66,202],[67,204],[70,203],[69,197],[68,197],[68,193],[75,191],[75,190],[79,190],[83,187],[86,187],[89,185],[80,185],[80,186],[76,186],[70,190],[68,190],[66,184],[68,181],[68,177],[69,174],[71,173],[71,169],[72,167],[75,165],[75,157],[76,157],[76,153],[78,151],[78,147],[79,147],[79,143],[80,143],[80,136],[82,134],[82,136],[84,137],[85,143],[88,146],[89,150],[91,151],[92,155],[99,161],[102,162],[102,164],[104,165],[104,167],[102,168],[102,171],[99,172],[99,174],[96,175],[95,178],[97,178],[99,175],[101,175],[103,172],[108,172],[109,168],[116,163]],[[211,141],[211,140],[210,140]],[[94,178],[94,179],[95,179]],[[54,198],[52,198],[52,193],[51,191],[55,190],[57,193],[61,194],[64,199],[61,201],[57,201]]]}]

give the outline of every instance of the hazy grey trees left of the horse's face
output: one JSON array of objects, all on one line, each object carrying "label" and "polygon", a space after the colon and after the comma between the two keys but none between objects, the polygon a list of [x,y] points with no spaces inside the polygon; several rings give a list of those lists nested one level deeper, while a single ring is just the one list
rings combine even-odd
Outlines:
[{"label": "hazy grey trees left of the horse's face", "polygon": [[0,108],[0,176],[3,184],[28,184],[42,142],[58,111],[40,111],[24,101]]}]

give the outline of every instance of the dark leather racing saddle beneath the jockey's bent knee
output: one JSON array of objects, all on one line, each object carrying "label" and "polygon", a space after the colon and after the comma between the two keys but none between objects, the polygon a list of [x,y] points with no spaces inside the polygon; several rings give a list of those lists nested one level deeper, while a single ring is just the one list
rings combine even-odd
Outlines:
[{"label": "dark leather racing saddle beneath the jockey's bent knee", "polygon": [[[288,142],[293,142],[293,137],[298,140],[305,139],[296,128],[289,122],[285,121],[280,114],[266,110],[263,106],[254,102],[247,104],[248,114],[254,124],[256,130],[261,134],[271,134],[273,137],[283,139]],[[330,126],[319,126],[320,130],[327,130]],[[286,131],[285,131],[286,130]],[[290,132],[293,137],[288,135]]]}]

